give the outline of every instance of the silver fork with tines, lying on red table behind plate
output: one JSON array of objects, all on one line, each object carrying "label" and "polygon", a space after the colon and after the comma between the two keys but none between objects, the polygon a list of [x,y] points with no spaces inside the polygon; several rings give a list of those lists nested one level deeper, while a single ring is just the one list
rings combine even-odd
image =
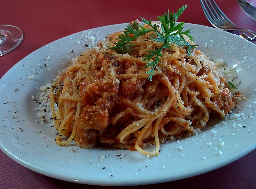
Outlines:
[{"label": "silver fork with tines, lying on red table behind plate", "polygon": [[251,30],[246,30],[243,28],[237,28],[235,24],[233,24],[227,16],[221,11],[218,5],[215,3],[214,0],[200,0],[200,3],[203,7],[204,14],[209,22],[215,28],[225,31],[243,31],[253,36],[248,36],[244,33],[240,34],[239,36],[247,39],[249,41],[256,40],[256,33]]}]

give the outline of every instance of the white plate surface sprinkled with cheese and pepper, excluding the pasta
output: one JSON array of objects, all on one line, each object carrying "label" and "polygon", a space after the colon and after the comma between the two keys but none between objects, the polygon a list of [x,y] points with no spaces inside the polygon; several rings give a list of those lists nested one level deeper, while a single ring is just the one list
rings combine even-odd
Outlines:
[{"label": "white plate surface sprinkled with cheese and pepper, excluding the pasta", "polygon": [[[90,46],[92,39],[104,39],[125,26],[94,28],[56,40],[23,58],[1,78],[0,148],[5,154],[33,171],[60,180],[93,185],[143,185],[202,174],[255,148],[256,46],[228,32],[195,24],[185,24],[185,28],[191,29],[198,49],[236,66],[242,82],[240,89],[248,100],[242,101],[235,112],[243,115],[229,117],[226,124],[221,122],[190,138],[163,144],[160,155],[150,158],[136,151],[57,146],[54,128],[35,121],[37,104],[31,96],[67,66],[72,57],[82,53],[86,44]],[[32,75],[34,80],[29,80]],[[221,141],[225,146],[219,145]],[[120,159],[119,154],[124,157]]]}]

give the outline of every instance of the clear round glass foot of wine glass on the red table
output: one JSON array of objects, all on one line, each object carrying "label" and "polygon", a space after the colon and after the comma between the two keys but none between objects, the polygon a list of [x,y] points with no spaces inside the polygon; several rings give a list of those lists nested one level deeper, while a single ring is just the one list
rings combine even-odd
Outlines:
[{"label": "clear round glass foot of wine glass on the red table", "polygon": [[0,25],[0,56],[10,53],[22,42],[23,32],[12,25]]}]

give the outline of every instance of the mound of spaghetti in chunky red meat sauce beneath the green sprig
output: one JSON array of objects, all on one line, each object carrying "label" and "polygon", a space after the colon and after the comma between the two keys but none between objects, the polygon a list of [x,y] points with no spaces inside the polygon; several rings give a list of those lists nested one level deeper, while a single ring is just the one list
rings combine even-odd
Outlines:
[{"label": "mound of spaghetti in chunky red meat sauce beneath the green sprig", "polygon": [[74,58],[53,82],[57,144],[74,140],[82,148],[97,144],[157,155],[160,143],[194,133],[211,116],[223,117],[234,107],[225,78],[201,51],[188,55],[186,46],[164,48],[150,81],[142,57],[161,42],[149,32],[132,41],[130,54],[118,54],[108,46],[121,33]]}]

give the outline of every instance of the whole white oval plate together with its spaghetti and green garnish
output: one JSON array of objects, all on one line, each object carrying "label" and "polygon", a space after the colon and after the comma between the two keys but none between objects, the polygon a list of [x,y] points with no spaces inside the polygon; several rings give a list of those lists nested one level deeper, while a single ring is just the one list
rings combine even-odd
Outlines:
[{"label": "whole white oval plate together with its spaghetti and green garnish", "polygon": [[255,149],[255,45],[142,21],[66,36],[12,67],[0,80],[1,150],[65,181],[143,185]]}]

